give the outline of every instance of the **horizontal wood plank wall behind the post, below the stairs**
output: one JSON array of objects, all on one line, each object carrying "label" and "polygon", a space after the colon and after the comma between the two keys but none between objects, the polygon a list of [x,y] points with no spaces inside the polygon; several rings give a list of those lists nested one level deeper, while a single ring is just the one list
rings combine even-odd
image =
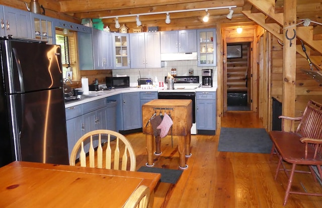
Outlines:
[{"label": "horizontal wood plank wall behind the post, below the stairs", "polygon": [[[272,36],[272,69],[271,96],[282,102],[283,85],[283,46]],[[301,69],[309,70],[308,62],[301,55],[296,54],[296,85],[295,85],[295,116],[301,116],[307,104],[312,99],[322,103],[322,84],[308,77]]]}]

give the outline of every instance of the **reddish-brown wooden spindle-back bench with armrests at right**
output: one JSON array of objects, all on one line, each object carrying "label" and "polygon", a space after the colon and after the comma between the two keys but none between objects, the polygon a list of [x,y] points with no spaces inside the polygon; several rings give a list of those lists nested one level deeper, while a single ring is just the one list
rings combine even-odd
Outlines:
[{"label": "reddish-brown wooden spindle-back bench with armrests at right", "polygon": [[[290,193],[322,196],[322,193],[291,190],[295,172],[310,173],[314,181],[317,181],[312,165],[316,165],[318,174],[322,178],[322,104],[310,100],[301,117],[279,116],[279,118],[282,119],[282,131],[270,131],[269,135],[273,141],[271,157],[274,153],[279,157],[275,179],[280,170],[284,170],[288,177],[284,205]],[[295,121],[300,121],[295,132],[285,131],[285,119],[290,120],[292,125]],[[284,161],[292,164],[291,169],[286,168]],[[282,168],[280,168],[281,165]],[[296,170],[296,165],[307,165],[309,171]]]}]

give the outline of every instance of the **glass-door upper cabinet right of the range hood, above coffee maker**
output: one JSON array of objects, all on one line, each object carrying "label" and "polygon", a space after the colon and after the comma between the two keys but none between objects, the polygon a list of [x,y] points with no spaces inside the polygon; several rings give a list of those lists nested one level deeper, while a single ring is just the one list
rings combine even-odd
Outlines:
[{"label": "glass-door upper cabinet right of the range hood, above coffee maker", "polygon": [[217,66],[216,29],[197,30],[198,67]]}]

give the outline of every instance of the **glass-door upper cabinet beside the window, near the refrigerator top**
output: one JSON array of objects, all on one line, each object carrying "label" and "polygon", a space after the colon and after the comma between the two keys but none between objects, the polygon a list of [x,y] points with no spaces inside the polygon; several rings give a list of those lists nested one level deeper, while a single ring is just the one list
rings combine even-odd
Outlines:
[{"label": "glass-door upper cabinet beside the window, near the refrigerator top", "polygon": [[48,44],[55,44],[54,19],[34,13],[31,18],[33,38],[46,41]]}]

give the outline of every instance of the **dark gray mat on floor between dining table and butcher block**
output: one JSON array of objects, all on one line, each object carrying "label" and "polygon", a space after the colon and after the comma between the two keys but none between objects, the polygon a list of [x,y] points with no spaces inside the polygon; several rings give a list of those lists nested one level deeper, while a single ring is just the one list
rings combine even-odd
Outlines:
[{"label": "dark gray mat on floor between dining table and butcher block", "polygon": [[177,180],[179,179],[179,177],[183,172],[183,170],[174,170],[174,169],[158,168],[158,167],[146,167],[146,166],[140,167],[137,171],[160,173],[161,174],[160,182],[173,183],[173,184],[176,184]]}]

